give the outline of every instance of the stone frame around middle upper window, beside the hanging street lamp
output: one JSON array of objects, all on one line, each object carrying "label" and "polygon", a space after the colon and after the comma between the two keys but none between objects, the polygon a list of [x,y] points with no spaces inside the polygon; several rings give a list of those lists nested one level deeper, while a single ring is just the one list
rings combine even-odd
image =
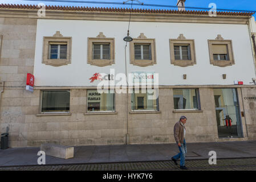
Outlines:
[{"label": "stone frame around middle upper window, beside the hanging street lamp", "polygon": [[[135,44],[150,44],[151,45],[151,60],[136,60],[135,59]],[[137,65],[139,67],[147,67],[149,65],[156,64],[156,40],[147,38],[143,33],[134,38],[130,42],[130,64]]]}]

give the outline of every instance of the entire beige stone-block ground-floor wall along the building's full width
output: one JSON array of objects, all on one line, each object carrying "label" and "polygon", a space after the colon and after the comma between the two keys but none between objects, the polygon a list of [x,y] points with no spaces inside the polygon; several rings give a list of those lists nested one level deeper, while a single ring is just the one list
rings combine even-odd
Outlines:
[{"label": "entire beige stone-block ground-floor wall along the building's full width", "polygon": [[[252,94],[254,89],[244,88],[242,93]],[[95,115],[86,114],[86,89],[71,89],[71,114],[47,115],[39,114],[40,90],[33,93],[5,90],[1,101],[1,132],[5,132],[6,126],[10,127],[11,147],[40,146],[41,143],[71,146],[125,144],[128,112],[128,144],[174,143],[173,126],[181,115],[188,118],[187,142],[216,142],[213,88],[199,88],[199,92],[202,111],[175,113],[173,89],[159,89],[159,113],[134,114],[130,102],[127,110],[127,94],[116,94],[116,113]],[[238,97],[242,98],[240,94]],[[240,104],[241,111],[243,105],[245,107],[243,134],[249,140],[256,139],[255,104],[251,104],[254,102]]]}]

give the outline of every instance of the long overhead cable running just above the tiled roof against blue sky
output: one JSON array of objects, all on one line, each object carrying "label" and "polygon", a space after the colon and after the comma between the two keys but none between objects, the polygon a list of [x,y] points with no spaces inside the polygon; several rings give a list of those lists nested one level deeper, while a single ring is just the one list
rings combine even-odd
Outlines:
[{"label": "long overhead cable running just above the tiled roof against blue sky", "polygon": [[[132,5],[132,3],[123,3],[123,2],[102,2],[102,1],[69,1],[69,0],[22,0],[22,1],[41,1],[41,2],[64,2],[64,3],[91,3],[91,4],[105,4],[105,5]],[[172,7],[177,8],[178,6],[172,5],[154,5],[154,4],[143,4],[133,3],[134,6],[152,6],[152,7]],[[196,9],[196,10],[212,10],[210,7],[189,7],[184,6],[186,9]],[[234,9],[216,9],[216,11],[240,11],[240,12],[249,12],[256,13],[254,10],[234,10]]]}]

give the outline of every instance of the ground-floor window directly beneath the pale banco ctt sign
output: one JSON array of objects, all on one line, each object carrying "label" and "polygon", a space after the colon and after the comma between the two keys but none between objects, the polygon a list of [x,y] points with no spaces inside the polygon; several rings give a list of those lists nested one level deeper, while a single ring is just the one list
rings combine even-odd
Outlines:
[{"label": "ground-floor window directly beneath the pale banco ctt sign", "polygon": [[132,110],[159,110],[156,89],[133,89]]}]

